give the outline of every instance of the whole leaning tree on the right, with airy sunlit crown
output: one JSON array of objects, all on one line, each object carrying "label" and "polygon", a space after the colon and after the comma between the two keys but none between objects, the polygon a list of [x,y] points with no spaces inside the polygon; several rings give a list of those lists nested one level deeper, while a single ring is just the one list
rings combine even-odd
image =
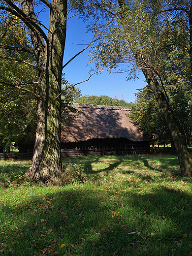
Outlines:
[{"label": "whole leaning tree on the right, with airy sunlit crown", "polygon": [[[125,68],[121,71],[127,71],[128,79],[136,78],[138,70],[143,72],[170,130],[181,173],[192,177],[192,158],[165,89],[165,85],[169,85],[170,89],[172,87],[172,90],[181,90],[187,85],[189,87],[186,88],[190,88],[192,84],[192,2],[88,2],[93,6],[90,14],[95,18],[89,28],[95,37],[100,38],[93,48],[91,61],[96,63],[96,68],[101,66],[108,70],[124,64]],[[86,7],[88,9],[89,5]],[[182,54],[184,58],[178,58]],[[174,80],[175,67],[178,68],[176,77],[180,86],[175,83],[177,79]],[[166,72],[170,75],[167,76]],[[191,89],[188,92],[191,93]]]}]

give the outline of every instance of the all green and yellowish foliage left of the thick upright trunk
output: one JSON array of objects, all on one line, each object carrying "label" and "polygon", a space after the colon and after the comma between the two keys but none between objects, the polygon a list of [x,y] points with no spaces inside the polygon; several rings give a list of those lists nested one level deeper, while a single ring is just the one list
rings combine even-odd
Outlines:
[{"label": "all green and yellowish foliage left of the thick upright trunk", "polygon": [[[29,52],[6,48],[11,45],[32,50],[25,26],[12,15],[5,15],[3,12],[0,14],[1,57],[8,55],[10,58],[34,63],[34,56]],[[0,59],[0,144],[9,147],[12,142],[18,142],[26,135],[29,140],[33,140],[33,134],[26,134],[26,128],[35,127],[36,99],[27,92],[3,83],[16,84],[21,88],[25,87],[37,93],[36,77],[37,73],[30,65]]]}]

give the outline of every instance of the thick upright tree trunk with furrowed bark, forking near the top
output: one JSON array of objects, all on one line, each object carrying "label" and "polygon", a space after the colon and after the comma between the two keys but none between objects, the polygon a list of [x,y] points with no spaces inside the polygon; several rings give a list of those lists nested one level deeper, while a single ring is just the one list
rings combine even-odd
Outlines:
[{"label": "thick upright tree trunk with furrowed bark, forking near the top", "polygon": [[[29,7],[31,1],[26,2],[27,4],[23,5],[26,14],[33,20],[36,19],[32,8]],[[49,35],[45,46],[42,37],[30,31],[41,71],[38,79],[40,99],[34,153],[27,175],[32,180],[43,183],[53,181],[62,171],[61,80],[66,36],[66,3],[67,0],[51,2]]]}]

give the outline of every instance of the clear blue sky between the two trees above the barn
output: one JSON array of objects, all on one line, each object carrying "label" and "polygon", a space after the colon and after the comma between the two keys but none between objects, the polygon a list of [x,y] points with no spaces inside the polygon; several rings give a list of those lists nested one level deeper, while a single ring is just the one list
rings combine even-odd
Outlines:
[{"label": "clear blue sky between the two trees above the barn", "polygon": [[[87,24],[82,20],[78,20],[77,16],[69,18],[70,16],[72,16],[72,14],[69,13],[64,64],[86,47],[85,42],[92,42],[92,34],[90,32],[87,33]],[[41,20],[43,24],[49,26],[47,24],[49,20],[48,13],[47,15],[44,13]],[[64,68],[63,72],[65,73],[65,79],[69,83],[76,84],[88,79],[90,68],[94,65],[89,63],[88,55],[90,50],[91,49],[89,48],[85,50]],[[139,78],[139,80],[135,81],[126,81],[126,73],[109,73],[103,71],[102,74],[93,75],[89,81],[84,82],[77,87],[80,88],[82,96],[106,95],[113,97],[117,95],[119,99],[123,95],[127,102],[134,102],[134,93],[137,93],[137,89],[141,89],[146,85],[146,82],[143,82],[145,78],[142,73],[140,73]]]}]

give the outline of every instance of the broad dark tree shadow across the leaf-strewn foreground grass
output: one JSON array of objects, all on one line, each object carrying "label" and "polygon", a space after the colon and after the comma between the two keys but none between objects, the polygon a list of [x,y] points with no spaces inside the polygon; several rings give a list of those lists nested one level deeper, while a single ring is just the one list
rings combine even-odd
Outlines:
[{"label": "broad dark tree shadow across the leaf-strewn foreground grass", "polygon": [[0,205],[3,255],[181,256],[192,252],[192,196],[181,190],[163,186],[144,194],[123,190],[118,197],[115,190],[120,188],[68,186],[53,192],[42,187],[38,195],[33,189],[23,203],[14,205],[12,200]]}]

